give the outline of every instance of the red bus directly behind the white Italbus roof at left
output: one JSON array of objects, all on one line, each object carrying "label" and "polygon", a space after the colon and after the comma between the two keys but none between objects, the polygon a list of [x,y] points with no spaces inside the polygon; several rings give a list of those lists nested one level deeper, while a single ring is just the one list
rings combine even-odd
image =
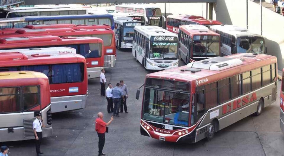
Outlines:
[{"label": "red bus directly behind the white Italbus roof at left", "polygon": [[[65,28],[66,29],[66,28]],[[8,34],[7,34],[8,35]],[[39,35],[39,34],[37,34]],[[96,37],[33,36],[0,38],[0,50],[68,46],[86,58],[88,78],[100,76],[104,67],[103,40]],[[2,51],[3,52],[3,51]]]}]

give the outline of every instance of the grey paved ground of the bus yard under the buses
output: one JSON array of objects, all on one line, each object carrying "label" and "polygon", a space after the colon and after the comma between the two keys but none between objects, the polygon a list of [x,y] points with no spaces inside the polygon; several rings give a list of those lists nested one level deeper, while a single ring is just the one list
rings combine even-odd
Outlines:
[{"label": "grey paved ground of the bus yard under the buses", "polygon": [[[284,134],[279,127],[279,99],[266,107],[262,115],[249,116],[219,131],[212,141],[201,140],[195,144],[177,144],[163,142],[141,136],[139,122],[141,98],[135,99],[136,89],[144,82],[149,71],[135,62],[131,52],[117,53],[117,64],[106,70],[107,82],[117,83],[125,80],[130,89],[128,99],[129,114],[120,113],[114,118],[106,134],[104,152],[108,156],[174,156],[174,155],[284,155]],[[180,63],[184,65],[183,63]],[[110,114],[106,111],[106,99],[100,94],[99,79],[89,81],[88,106],[84,110],[75,110],[52,114],[54,136],[44,138],[41,146],[44,155],[74,156],[97,155],[98,136],[94,130],[97,112],[104,112],[104,120]],[[278,84],[278,97],[280,83]],[[1,136],[0,136],[1,137]],[[9,156],[35,155],[33,140],[0,143],[9,146]]]}]

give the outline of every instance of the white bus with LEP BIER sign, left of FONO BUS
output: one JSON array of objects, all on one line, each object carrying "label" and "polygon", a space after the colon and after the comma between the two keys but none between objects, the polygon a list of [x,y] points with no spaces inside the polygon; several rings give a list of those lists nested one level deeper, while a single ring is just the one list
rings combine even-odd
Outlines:
[{"label": "white bus with LEP BIER sign, left of FONO BUS", "polygon": [[117,49],[132,48],[134,27],[143,25],[143,22],[133,20],[131,17],[113,17],[115,43]]}]

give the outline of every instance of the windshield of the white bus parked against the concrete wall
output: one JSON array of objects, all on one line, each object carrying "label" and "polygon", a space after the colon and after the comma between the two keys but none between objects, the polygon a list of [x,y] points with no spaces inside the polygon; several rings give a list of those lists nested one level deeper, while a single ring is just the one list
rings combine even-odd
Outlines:
[{"label": "windshield of the white bus parked against the concrete wall", "polygon": [[265,44],[263,38],[237,38],[237,53],[264,54]]}]

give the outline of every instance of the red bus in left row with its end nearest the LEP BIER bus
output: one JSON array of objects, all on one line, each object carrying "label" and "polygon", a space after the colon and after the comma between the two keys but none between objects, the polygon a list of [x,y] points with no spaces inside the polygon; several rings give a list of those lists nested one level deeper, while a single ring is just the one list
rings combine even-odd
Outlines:
[{"label": "red bus in left row with its end nearest the LEP BIER bus", "polygon": [[104,68],[114,67],[115,65],[115,36],[109,25],[27,25],[25,28],[6,28],[5,30],[0,30],[0,33],[1,38],[45,35],[98,37],[104,41]]}]

